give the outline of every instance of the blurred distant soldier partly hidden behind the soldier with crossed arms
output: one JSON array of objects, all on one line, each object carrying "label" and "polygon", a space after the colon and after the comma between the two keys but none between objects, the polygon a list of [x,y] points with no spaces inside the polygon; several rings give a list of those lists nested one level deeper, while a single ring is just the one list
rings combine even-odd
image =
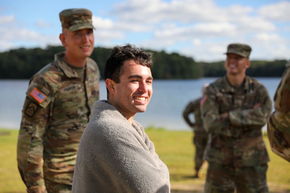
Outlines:
[{"label": "blurred distant soldier partly hidden behind the soldier with crossed arms", "polygon": [[[202,94],[204,94],[204,91],[206,87],[208,86],[209,86],[208,83],[204,84],[202,88]],[[204,150],[205,150],[205,147],[207,144],[207,138],[208,138],[208,133],[206,133],[203,127],[202,116],[200,112],[201,99],[202,98],[198,98],[190,102],[183,111],[184,120],[194,130],[193,144],[195,145],[195,157],[194,157],[195,175],[193,176],[193,178],[199,177],[198,172],[204,161],[203,155],[204,155]],[[189,119],[189,114],[191,113],[194,113],[195,123],[191,122],[191,120]]]}]

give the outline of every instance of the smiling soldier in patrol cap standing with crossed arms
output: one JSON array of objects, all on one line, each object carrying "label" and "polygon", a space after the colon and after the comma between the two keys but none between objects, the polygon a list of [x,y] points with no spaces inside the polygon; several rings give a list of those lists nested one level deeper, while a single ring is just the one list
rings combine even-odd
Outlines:
[{"label": "smiling soldier in patrol cap standing with crossed arms", "polygon": [[248,45],[230,44],[226,76],[210,84],[200,102],[209,133],[205,192],[269,192],[269,157],[261,128],[272,102],[266,88],[246,76],[250,52]]}]

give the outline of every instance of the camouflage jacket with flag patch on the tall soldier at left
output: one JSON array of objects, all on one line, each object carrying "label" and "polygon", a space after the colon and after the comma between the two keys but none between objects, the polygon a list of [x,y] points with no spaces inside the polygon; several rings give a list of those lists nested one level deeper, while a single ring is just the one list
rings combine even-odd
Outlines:
[{"label": "camouflage jacket with flag patch on the tall soldier at left", "polygon": [[62,60],[64,54],[56,54],[30,79],[26,93],[17,160],[21,178],[28,191],[35,189],[32,192],[46,191],[44,179],[72,185],[77,142],[99,100],[95,61],[86,60],[84,78],[80,78]]}]

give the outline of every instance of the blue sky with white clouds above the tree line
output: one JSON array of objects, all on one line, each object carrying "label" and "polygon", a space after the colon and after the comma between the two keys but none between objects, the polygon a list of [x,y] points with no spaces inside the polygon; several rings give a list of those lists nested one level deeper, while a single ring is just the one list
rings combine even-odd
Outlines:
[{"label": "blue sky with white clouds above the tree line", "polygon": [[290,58],[290,1],[279,0],[4,0],[0,52],[61,45],[59,12],[68,8],[93,12],[95,46],[131,43],[212,62],[229,43],[246,43],[251,60]]}]

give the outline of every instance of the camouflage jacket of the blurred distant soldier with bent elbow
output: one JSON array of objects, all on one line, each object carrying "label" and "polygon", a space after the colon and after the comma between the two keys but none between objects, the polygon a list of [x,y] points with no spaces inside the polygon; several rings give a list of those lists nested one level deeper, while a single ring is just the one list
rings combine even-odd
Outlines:
[{"label": "camouflage jacket of the blurred distant soldier with bent elbow", "polygon": [[[199,134],[207,135],[206,131],[204,130],[201,111],[200,111],[200,100],[202,98],[198,98],[192,102],[190,102],[183,111],[184,120],[189,124],[189,126],[193,125],[194,132]],[[188,115],[194,113],[195,123],[193,124]]]}]

